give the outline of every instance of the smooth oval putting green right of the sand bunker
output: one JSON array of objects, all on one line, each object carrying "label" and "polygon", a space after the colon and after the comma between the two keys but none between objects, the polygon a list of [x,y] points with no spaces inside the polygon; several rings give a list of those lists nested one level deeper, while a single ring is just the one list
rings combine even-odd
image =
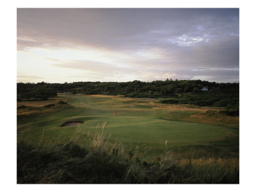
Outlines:
[{"label": "smooth oval putting green right of the sand bunker", "polygon": [[111,139],[125,143],[194,143],[225,138],[231,134],[218,125],[175,122],[156,118],[114,116],[102,120],[88,120],[80,126],[81,132],[102,131]]}]

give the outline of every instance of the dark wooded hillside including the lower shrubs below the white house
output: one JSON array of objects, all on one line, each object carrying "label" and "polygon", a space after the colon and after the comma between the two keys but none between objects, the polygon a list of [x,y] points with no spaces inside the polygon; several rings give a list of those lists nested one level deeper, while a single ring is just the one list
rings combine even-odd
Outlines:
[{"label": "dark wooded hillside including the lower shrubs below the white house", "polygon": [[[203,88],[211,98],[204,100],[208,95],[198,95]],[[215,83],[201,80],[180,80],[173,81],[152,81],[141,82],[131,81],[126,83],[118,82],[74,82],[74,83],[17,83],[17,96],[19,99],[47,99],[57,93],[84,93],[86,95],[125,95],[125,97],[136,98],[170,98],[182,97],[180,103],[196,104],[200,106],[227,106],[234,102],[237,104],[239,83]],[[192,95],[186,95],[186,93]],[[214,93],[218,93],[214,94]],[[221,94],[220,94],[221,93]],[[223,97],[228,93],[228,98]],[[194,95],[194,96],[193,96]],[[184,96],[184,97],[183,97]],[[227,99],[232,97],[232,102]],[[226,99],[226,100],[225,100]],[[204,100],[204,102],[202,102]]]}]

